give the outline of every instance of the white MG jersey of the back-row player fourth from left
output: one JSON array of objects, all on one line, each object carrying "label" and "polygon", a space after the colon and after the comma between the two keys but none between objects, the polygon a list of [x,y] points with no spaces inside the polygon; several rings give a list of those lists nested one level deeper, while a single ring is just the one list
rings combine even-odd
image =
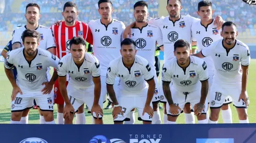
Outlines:
[{"label": "white MG jersey of the back-row player fourth from left", "polygon": [[136,43],[136,55],[145,58],[150,66],[154,67],[156,42],[159,46],[164,45],[164,43],[162,43],[161,30],[156,25],[152,24],[147,24],[141,30],[139,28],[132,28],[131,39]]}]

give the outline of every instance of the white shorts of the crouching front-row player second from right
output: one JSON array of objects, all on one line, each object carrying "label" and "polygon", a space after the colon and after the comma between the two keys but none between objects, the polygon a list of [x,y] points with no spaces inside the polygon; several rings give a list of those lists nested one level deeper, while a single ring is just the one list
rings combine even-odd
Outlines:
[{"label": "white shorts of the crouching front-row player second from right", "polygon": [[[180,109],[182,110],[185,106],[186,103],[190,103],[191,104],[191,109],[194,109],[194,106],[200,102],[200,98],[201,98],[201,89],[199,90],[195,90],[194,92],[180,92],[176,89],[171,88],[171,96],[172,96],[172,100],[173,103],[177,106],[180,107]],[[205,108],[202,111],[202,114],[206,114],[207,109],[208,109],[208,101],[207,98],[205,100],[205,104],[204,104]],[[170,112],[170,108],[169,108],[169,104],[166,104],[166,109],[167,109],[167,115],[171,115],[171,116],[178,116],[181,111],[179,112],[179,114],[176,115],[172,115]],[[193,112],[193,111],[192,111]]]}]

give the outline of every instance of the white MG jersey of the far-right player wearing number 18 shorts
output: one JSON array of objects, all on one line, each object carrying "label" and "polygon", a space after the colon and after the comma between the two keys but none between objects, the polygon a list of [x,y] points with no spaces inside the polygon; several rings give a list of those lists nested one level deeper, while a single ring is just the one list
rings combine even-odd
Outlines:
[{"label": "white MG jersey of the far-right player wearing number 18 shorts", "polygon": [[250,64],[250,50],[248,46],[236,40],[235,46],[228,52],[223,46],[223,39],[213,42],[202,49],[203,56],[211,56],[214,62],[213,83],[219,86],[237,87],[242,83],[242,66]]}]

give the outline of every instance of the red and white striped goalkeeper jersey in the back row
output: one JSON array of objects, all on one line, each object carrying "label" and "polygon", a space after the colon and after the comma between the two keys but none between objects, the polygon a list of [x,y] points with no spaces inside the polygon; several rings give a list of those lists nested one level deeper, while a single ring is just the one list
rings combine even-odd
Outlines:
[{"label": "red and white striped goalkeeper jersey in the back row", "polygon": [[69,53],[69,41],[74,36],[81,36],[86,40],[86,42],[91,45],[93,44],[91,30],[84,22],[76,21],[74,26],[68,27],[65,25],[65,21],[63,21],[59,26],[53,24],[51,26],[51,30],[56,43],[55,55],[60,59]]}]

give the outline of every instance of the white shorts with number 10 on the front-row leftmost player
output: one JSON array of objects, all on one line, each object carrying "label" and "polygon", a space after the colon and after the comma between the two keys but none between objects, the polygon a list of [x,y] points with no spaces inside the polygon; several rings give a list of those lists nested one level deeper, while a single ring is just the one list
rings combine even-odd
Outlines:
[{"label": "white shorts with number 10 on the front-row leftmost player", "polygon": [[[22,91],[22,89],[21,89]],[[33,94],[33,93],[20,93],[17,94],[14,101],[11,101],[11,112],[21,112],[25,109],[30,109],[34,105],[34,100],[41,111],[54,110],[53,91],[50,94]]]}]

